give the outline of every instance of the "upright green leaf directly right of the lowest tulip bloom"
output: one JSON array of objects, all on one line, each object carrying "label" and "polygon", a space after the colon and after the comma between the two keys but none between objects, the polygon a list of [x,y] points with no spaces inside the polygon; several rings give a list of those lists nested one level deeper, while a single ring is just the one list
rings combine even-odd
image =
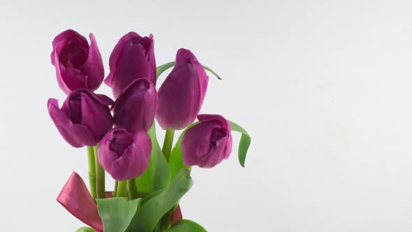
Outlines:
[{"label": "upright green leaf directly right of the lowest tulip bloom", "polygon": [[149,132],[152,140],[152,154],[150,156],[149,167],[135,179],[139,194],[151,194],[159,189],[164,189],[170,182],[170,169],[161,148],[156,139],[155,125],[153,124]]}]

